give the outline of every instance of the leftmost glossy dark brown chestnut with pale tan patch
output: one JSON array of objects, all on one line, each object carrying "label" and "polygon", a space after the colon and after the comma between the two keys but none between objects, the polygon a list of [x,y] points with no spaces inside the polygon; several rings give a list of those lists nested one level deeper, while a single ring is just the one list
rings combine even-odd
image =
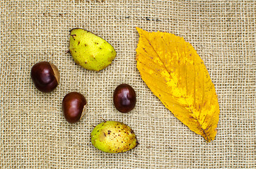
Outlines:
[{"label": "leftmost glossy dark brown chestnut with pale tan patch", "polygon": [[58,68],[47,61],[35,63],[31,68],[30,76],[40,92],[52,92],[59,84]]}]

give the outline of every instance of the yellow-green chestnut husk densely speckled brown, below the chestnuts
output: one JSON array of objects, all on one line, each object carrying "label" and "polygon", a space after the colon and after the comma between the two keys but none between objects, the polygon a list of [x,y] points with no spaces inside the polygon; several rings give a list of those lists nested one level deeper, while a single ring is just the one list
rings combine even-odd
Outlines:
[{"label": "yellow-green chestnut husk densely speckled brown, below the chestnuts", "polygon": [[116,121],[97,125],[91,132],[91,142],[97,149],[107,153],[122,153],[139,144],[131,127]]}]

